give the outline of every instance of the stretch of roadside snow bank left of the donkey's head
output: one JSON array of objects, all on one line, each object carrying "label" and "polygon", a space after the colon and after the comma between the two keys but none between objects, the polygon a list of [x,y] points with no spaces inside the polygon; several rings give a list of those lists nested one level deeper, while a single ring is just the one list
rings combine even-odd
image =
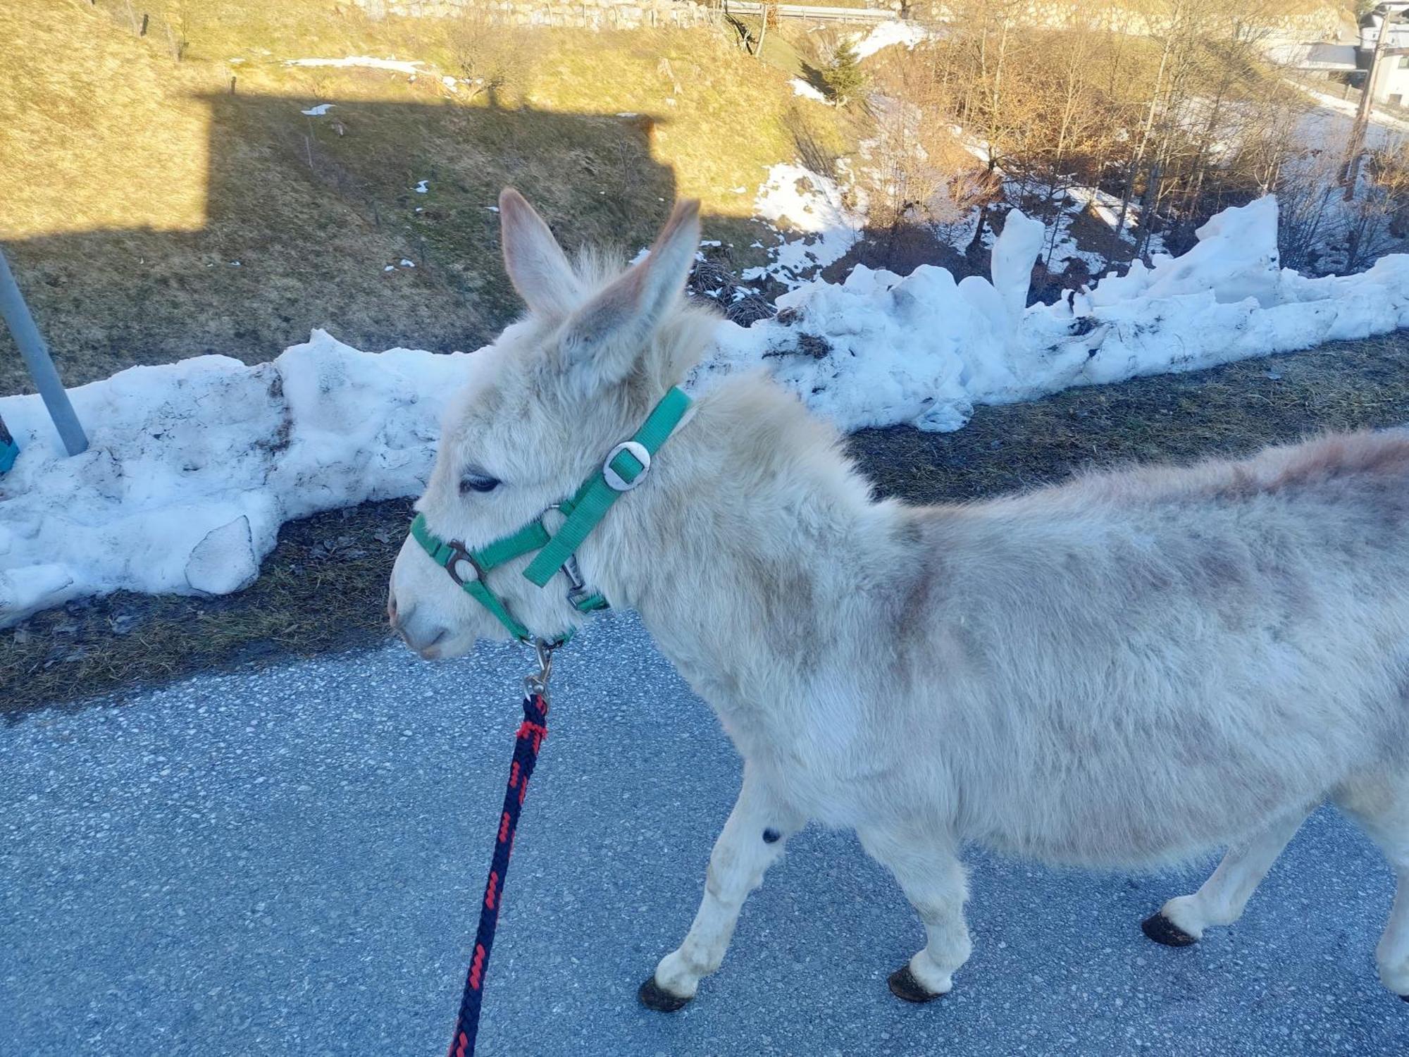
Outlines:
[{"label": "stretch of roadside snow bank left of the donkey's head", "polygon": [[248,585],[279,526],[420,490],[465,354],[358,352],[314,331],[272,364],[194,357],[70,390],[92,447],[65,458],[38,396],[0,399],[0,626],[117,589]]}]

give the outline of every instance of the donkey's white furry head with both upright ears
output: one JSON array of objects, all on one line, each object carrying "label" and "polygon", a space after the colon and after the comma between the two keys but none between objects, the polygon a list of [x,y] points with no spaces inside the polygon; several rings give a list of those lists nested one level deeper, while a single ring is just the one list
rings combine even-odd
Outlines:
[{"label": "donkey's white furry head with both upright ears", "polygon": [[[504,266],[528,314],[475,354],[417,503],[421,540],[406,540],[392,571],[392,624],[426,658],[506,638],[510,622],[547,640],[581,623],[564,574],[538,588],[520,575],[528,557],[486,572],[489,562],[455,547],[482,552],[572,496],[689,369],[714,326],[681,296],[699,245],[697,202],[676,204],[650,255],[612,276],[590,258],[573,268],[517,192],[504,190],[499,210]],[[433,543],[442,547],[437,558]],[[475,579],[510,622],[457,583]]]}]

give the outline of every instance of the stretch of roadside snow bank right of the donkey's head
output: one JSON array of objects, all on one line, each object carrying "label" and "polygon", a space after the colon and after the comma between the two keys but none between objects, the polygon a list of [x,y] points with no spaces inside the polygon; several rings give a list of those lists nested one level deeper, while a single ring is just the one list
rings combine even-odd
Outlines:
[{"label": "stretch of roadside snow bank right of the donkey's head", "polygon": [[1043,227],[1013,210],[992,282],[924,265],[903,279],[858,266],[841,285],[803,283],[778,299],[778,317],[723,324],[696,383],[765,364],[844,430],[957,430],[975,404],[1409,326],[1409,255],[1326,279],[1281,269],[1271,197],[1224,210],[1198,235],[1181,258],[1024,309]]}]

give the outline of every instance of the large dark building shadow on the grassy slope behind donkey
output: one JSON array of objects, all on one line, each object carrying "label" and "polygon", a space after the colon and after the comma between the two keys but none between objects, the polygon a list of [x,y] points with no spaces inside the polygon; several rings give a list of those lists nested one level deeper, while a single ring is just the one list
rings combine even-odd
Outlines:
[{"label": "large dark building shadow on the grassy slope behind donkey", "polygon": [[[200,352],[268,359],[330,324],[362,348],[475,348],[520,310],[499,262],[500,187],[523,190],[568,247],[631,252],[675,199],[650,114],[348,100],[309,116],[306,97],[200,101],[200,230],[6,242],[68,385]],[[32,389],[0,327],[0,393],[14,392]]]}]

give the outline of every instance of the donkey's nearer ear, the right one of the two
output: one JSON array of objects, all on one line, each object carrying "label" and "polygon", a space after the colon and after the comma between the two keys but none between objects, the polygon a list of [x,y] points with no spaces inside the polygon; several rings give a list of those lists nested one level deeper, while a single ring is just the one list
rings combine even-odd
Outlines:
[{"label": "donkey's nearer ear, the right one of the two", "polygon": [[626,378],[685,289],[700,242],[700,203],[675,204],[650,255],[572,314],[565,368],[585,389]]}]

